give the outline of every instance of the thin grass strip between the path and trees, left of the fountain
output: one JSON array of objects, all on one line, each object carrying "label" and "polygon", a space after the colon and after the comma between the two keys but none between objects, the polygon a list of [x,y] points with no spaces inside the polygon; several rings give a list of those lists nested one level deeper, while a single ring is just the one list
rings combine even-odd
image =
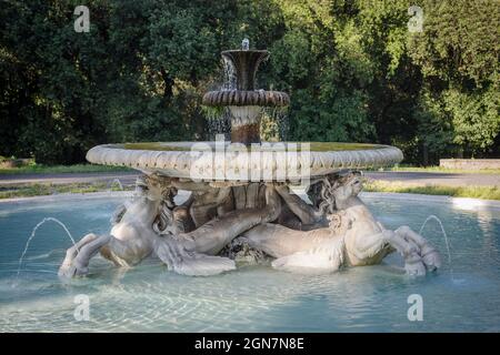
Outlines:
[{"label": "thin grass strip between the path and trees, left of the fountain", "polygon": [[101,172],[132,172],[132,169],[126,166],[108,166],[96,164],[76,164],[76,165],[42,165],[30,164],[20,168],[0,169],[0,174],[59,174],[59,173],[101,173]]}]

